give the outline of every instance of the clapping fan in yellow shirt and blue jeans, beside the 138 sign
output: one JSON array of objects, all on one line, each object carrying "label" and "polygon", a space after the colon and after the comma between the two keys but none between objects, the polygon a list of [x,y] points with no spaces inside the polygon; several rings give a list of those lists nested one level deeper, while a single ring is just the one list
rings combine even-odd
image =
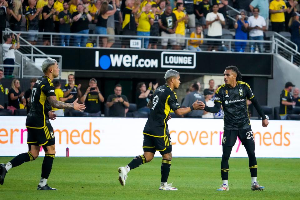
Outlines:
[{"label": "clapping fan in yellow shirt and blue jeans, beside the 138 sign", "polygon": [[[150,28],[154,23],[154,14],[150,12],[151,4],[147,3],[142,11],[137,14],[138,27],[137,35],[139,36],[150,36]],[[138,38],[142,40],[142,38]],[[149,37],[144,38],[144,48],[147,49],[149,45]]]}]

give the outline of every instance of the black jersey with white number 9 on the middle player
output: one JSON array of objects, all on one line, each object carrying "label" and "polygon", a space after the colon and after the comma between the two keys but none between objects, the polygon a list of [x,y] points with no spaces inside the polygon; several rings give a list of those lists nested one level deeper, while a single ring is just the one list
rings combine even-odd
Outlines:
[{"label": "black jersey with white number 9 on the middle player", "polygon": [[145,125],[143,134],[162,138],[168,128],[168,115],[170,110],[180,108],[176,93],[167,85],[159,86],[150,97],[152,108]]}]

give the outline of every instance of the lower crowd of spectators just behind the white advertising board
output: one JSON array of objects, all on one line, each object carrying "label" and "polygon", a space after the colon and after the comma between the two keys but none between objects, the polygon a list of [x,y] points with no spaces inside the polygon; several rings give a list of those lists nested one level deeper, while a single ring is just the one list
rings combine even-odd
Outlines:
[{"label": "lower crowd of spectators just behind the white advertising board", "polygon": [[[26,91],[21,91],[20,81],[15,78],[12,80],[10,88],[4,88],[1,84],[3,77],[3,70],[0,69],[0,111],[4,108],[10,110],[12,114],[16,111],[21,115],[26,115],[30,110],[30,98],[32,88],[36,83],[37,79],[30,79],[30,88]],[[148,87],[147,87],[148,85]],[[53,112],[57,116],[80,116],[80,117],[148,117],[150,114],[150,108],[147,107],[149,99],[153,95],[154,91],[158,88],[158,83],[153,84],[152,82],[146,85],[145,82],[137,84],[135,93],[135,102],[129,103],[126,95],[122,94],[122,85],[117,84],[114,86],[113,91],[107,98],[104,98],[103,93],[97,85],[97,80],[91,78],[88,82],[88,87],[85,92],[81,92],[81,84],[75,84],[75,76],[73,74],[68,75],[68,83],[62,85],[60,80],[53,80],[54,92],[58,101],[73,103],[76,99],[78,102],[85,104],[86,109],[84,113],[79,111],[73,111],[69,109],[55,109],[52,108]],[[217,88],[221,85],[215,86],[213,79],[208,81],[208,88],[201,90],[200,82],[195,82],[190,85],[186,90],[186,95],[182,99],[181,107],[185,108],[194,103],[196,100],[202,101],[205,105],[213,107],[214,96]],[[291,82],[285,84],[284,89],[280,94],[279,106],[274,108],[277,110],[278,119],[289,120],[298,119],[300,120],[300,97],[299,88],[294,88],[295,85]],[[8,102],[5,101],[5,94],[8,95]],[[247,105],[251,104],[250,100],[247,100]],[[266,107],[266,106],[263,106]],[[103,109],[104,108],[104,109]],[[104,112],[103,112],[104,110]],[[133,114],[135,113],[135,114]],[[170,113],[174,114],[173,111]],[[267,113],[271,114],[271,113]],[[16,114],[18,115],[18,114]],[[249,110],[249,116],[251,117]],[[173,115],[175,117],[175,115]],[[184,116],[176,116],[182,118],[220,118],[224,117],[224,111],[221,106],[218,113],[207,113],[206,111],[192,111]],[[273,117],[274,118],[274,117]],[[272,119],[273,119],[272,118]]]}]

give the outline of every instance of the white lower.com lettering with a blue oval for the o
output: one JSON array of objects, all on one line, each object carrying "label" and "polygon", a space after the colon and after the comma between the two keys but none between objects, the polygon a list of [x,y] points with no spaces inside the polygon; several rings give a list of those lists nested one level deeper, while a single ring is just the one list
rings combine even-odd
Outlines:
[{"label": "white lower.com lettering with a blue oval for the o", "polygon": [[139,58],[139,55],[109,54],[101,55],[95,52],[95,67],[107,70],[110,67],[158,68],[158,59]]}]

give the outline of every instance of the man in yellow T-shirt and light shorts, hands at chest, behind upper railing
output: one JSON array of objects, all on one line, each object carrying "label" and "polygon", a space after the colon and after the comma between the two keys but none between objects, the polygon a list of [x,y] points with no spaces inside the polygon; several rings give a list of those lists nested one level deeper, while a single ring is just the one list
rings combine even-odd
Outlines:
[{"label": "man in yellow T-shirt and light shorts, hands at chest, behind upper railing", "polygon": [[182,37],[185,37],[185,24],[188,22],[188,16],[183,12],[183,3],[176,3],[176,8],[177,9],[173,11],[178,23],[175,30],[177,37],[176,49],[180,50],[181,46],[184,45],[184,39],[182,39]]}]

